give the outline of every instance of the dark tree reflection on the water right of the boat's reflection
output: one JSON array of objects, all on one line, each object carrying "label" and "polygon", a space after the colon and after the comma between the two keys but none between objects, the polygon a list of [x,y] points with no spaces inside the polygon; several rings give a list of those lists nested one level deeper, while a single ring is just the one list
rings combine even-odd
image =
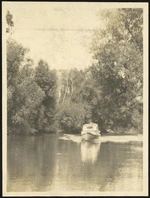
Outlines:
[{"label": "dark tree reflection on the water right of the boat's reflection", "polygon": [[[133,142],[133,144],[112,142],[101,143],[99,160],[95,166],[95,169],[99,168],[99,171],[96,173],[97,177],[95,177],[96,183],[100,184],[99,190],[103,190],[108,182],[113,183],[114,177],[117,176],[118,171],[122,169],[122,167],[132,167],[132,164],[127,163],[127,161],[137,162],[138,165],[142,164],[142,153],[135,152],[135,150],[133,150],[134,145],[136,145],[136,142]],[[141,145],[137,146],[139,147]],[[138,160],[140,160],[140,163]],[[141,170],[141,166],[138,167],[138,171]],[[125,180],[128,181],[128,175],[124,175],[124,177]]]}]

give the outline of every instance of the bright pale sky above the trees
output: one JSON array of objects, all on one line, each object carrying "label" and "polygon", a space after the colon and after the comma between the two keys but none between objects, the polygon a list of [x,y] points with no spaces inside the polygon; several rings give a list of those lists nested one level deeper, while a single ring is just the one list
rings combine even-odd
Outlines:
[{"label": "bright pale sky above the trees", "polygon": [[30,49],[30,57],[51,68],[85,68],[92,63],[90,43],[100,26],[99,3],[7,2],[13,15],[13,38]]}]

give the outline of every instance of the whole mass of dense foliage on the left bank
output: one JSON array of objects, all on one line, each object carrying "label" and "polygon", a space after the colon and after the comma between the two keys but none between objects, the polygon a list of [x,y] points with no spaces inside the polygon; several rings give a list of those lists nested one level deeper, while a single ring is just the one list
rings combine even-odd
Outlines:
[{"label": "whole mass of dense foliage on the left bank", "polygon": [[56,100],[56,73],[40,60],[33,61],[14,40],[7,41],[8,130],[35,133],[50,131]]}]

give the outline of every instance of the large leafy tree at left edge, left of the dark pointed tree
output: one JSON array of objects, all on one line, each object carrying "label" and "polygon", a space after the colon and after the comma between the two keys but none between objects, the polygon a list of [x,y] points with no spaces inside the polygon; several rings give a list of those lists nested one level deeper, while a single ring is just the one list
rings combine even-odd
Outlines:
[{"label": "large leafy tree at left edge, left of the dark pointed tree", "polygon": [[33,61],[28,50],[16,41],[7,41],[7,118],[9,132],[32,133],[37,128],[38,109],[44,92],[34,80]]}]

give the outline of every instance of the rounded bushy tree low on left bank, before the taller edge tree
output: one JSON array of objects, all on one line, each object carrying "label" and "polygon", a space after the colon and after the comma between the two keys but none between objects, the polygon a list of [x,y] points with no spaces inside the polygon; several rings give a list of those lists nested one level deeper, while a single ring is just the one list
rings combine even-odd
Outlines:
[{"label": "rounded bushy tree low on left bank, before the taller edge tree", "polygon": [[18,84],[16,92],[14,98],[15,113],[12,116],[13,125],[20,130],[19,132],[38,131],[38,109],[41,108],[44,92],[32,78],[26,78]]}]

